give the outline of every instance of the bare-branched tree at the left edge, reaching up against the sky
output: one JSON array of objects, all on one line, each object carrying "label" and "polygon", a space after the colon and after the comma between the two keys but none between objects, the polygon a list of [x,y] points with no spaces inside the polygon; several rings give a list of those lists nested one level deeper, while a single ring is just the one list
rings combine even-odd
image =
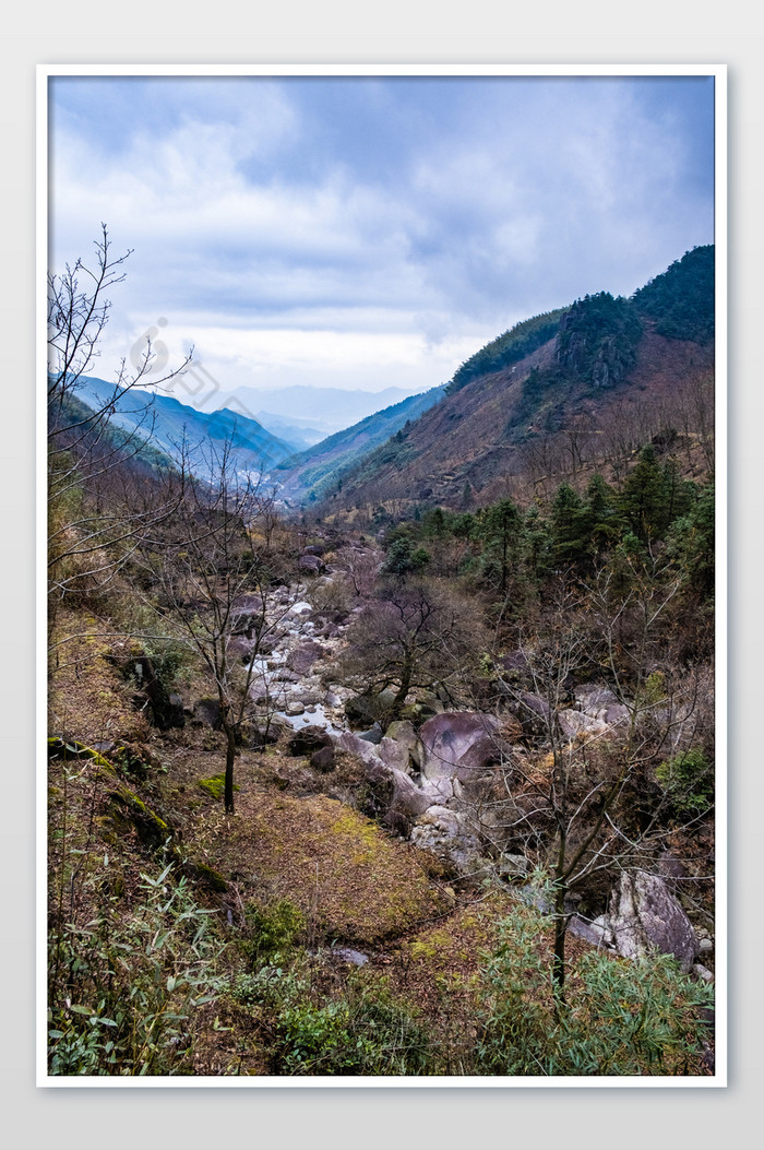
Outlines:
[{"label": "bare-branched tree at the left edge, reaching up against the sky", "polygon": [[[152,374],[154,351],[147,340],[131,373],[122,359],[102,398],[78,398],[86,373],[100,355],[108,323],[110,289],[125,277],[131,252],[113,256],[106,224],[92,261],[78,259],[62,275],[48,275],[48,629],[67,596],[103,592],[138,540],[172,512],[167,490],[131,482],[151,442],[152,397],[140,389]],[[187,366],[152,379],[162,385]],[[133,428],[115,420],[116,405],[131,393]],[[134,404],[132,400],[134,399]],[[183,467],[176,460],[176,467]],[[132,468],[132,471],[131,471]],[[144,473],[151,470],[148,465]],[[137,498],[136,498],[137,497]]]}]

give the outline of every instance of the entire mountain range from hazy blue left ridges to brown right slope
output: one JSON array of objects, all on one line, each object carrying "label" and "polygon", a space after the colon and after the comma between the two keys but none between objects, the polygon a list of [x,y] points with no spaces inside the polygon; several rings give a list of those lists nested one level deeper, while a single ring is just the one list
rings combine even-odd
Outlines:
[{"label": "entire mountain range from hazy blue left ridges to brown right slope", "polygon": [[[238,471],[267,477],[287,508],[495,498],[534,454],[542,475],[555,452],[580,454],[587,437],[603,444],[619,421],[646,428],[648,408],[661,408],[677,422],[677,405],[692,407],[713,370],[713,259],[712,245],[696,247],[630,299],[600,292],[525,320],[424,393],[240,388],[227,397],[234,411],[207,413],[133,390],[117,394],[113,425],[146,438],[154,463],[157,452],[176,460],[184,436],[198,465],[204,445],[230,443]],[[98,409],[114,393],[87,377],[76,398]]]}]

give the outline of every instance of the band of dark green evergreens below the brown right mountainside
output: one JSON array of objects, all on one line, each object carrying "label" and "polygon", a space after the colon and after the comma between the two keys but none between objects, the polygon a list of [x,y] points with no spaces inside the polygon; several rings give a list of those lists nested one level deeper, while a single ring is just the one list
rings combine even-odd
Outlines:
[{"label": "band of dark green evergreens below the brown right mountainside", "polygon": [[[457,569],[442,569],[447,544]],[[441,568],[445,575],[476,580],[489,591],[541,591],[563,572],[587,577],[620,549],[635,559],[657,552],[682,574],[701,600],[713,593],[713,484],[684,480],[674,460],[642,448],[618,485],[594,475],[582,493],[561,483],[549,504],[518,507],[501,499],[476,511],[418,508],[392,527],[385,539],[385,569],[406,574]]]}]

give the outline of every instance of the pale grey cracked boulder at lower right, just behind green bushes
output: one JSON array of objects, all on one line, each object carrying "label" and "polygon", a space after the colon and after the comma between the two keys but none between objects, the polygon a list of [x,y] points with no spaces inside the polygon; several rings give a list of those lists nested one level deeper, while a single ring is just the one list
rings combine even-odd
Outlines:
[{"label": "pale grey cracked boulder at lower right, just behind green bushes", "polygon": [[673,954],[687,974],[700,953],[692,922],[666,883],[646,871],[623,872],[605,925],[616,950],[626,958],[658,950]]}]

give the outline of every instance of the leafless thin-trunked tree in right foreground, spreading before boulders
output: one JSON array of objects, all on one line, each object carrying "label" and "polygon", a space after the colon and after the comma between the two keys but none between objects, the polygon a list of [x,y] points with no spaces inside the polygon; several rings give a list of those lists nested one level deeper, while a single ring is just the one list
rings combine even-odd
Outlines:
[{"label": "leafless thin-trunked tree in right foreground, spreading before boulders", "polygon": [[[535,750],[512,747],[499,772],[484,827],[506,849],[527,851],[549,874],[555,922],[553,972],[564,992],[571,895],[630,866],[649,866],[665,846],[671,793],[655,767],[702,734],[707,684],[700,668],[671,668],[662,624],[680,582],[667,569],[605,568],[589,588],[558,588],[543,635],[522,643],[532,691],[509,680],[518,715],[537,733]],[[661,658],[663,652],[663,659]],[[607,668],[609,714],[569,710],[571,683]],[[663,669],[658,669],[663,667]],[[709,806],[687,813],[692,828]]]}]

